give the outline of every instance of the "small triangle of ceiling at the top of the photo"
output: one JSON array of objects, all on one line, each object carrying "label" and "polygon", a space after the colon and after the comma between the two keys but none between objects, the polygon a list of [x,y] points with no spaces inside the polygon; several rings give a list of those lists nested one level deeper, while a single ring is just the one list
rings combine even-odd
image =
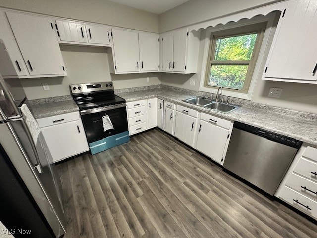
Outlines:
[{"label": "small triangle of ceiling at the top of the photo", "polygon": [[122,5],[130,6],[144,11],[156,14],[163,13],[169,9],[183,4],[189,0],[109,0]]}]

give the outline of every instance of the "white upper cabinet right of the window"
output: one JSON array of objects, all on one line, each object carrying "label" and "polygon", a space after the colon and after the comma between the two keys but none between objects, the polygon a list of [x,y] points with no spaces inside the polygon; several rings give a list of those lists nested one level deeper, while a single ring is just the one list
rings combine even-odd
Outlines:
[{"label": "white upper cabinet right of the window", "polygon": [[281,13],[263,79],[317,83],[317,0],[291,0]]}]

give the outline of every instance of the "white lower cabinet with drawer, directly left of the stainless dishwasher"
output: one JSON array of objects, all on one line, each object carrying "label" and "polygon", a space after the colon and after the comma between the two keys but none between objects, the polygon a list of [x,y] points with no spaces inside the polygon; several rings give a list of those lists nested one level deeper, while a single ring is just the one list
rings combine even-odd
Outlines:
[{"label": "white lower cabinet with drawer, directly left of the stainless dishwasher", "polygon": [[199,121],[196,149],[223,165],[232,125],[231,121],[202,113]]}]

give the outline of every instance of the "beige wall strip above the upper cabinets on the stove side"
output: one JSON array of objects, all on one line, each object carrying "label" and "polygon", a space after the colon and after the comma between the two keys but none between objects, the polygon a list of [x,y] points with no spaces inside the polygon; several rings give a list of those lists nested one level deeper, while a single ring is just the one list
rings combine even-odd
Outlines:
[{"label": "beige wall strip above the upper cabinets on the stove side", "polygon": [[159,32],[159,15],[107,0],[0,0],[0,7]]}]

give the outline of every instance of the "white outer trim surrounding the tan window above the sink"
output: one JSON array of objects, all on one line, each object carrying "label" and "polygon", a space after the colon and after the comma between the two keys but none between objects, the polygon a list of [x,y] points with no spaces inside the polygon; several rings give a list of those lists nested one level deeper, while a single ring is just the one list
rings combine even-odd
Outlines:
[{"label": "white outer trim surrounding the tan window above the sink", "polygon": [[236,97],[236,98],[241,98],[241,99],[246,99],[246,100],[251,100],[252,93],[254,91],[256,82],[258,79],[261,79],[266,58],[270,49],[270,45],[273,40],[273,36],[276,30],[276,25],[277,21],[279,19],[279,14],[276,12],[272,12],[268,14],[267,16],[256,16],[253,17],[252,19],[243,19],[240,20],[238,23],[227,23],[225,26],[220,25],[216,27],[210,27],[206,29],[206,35],[205,35],[205,45],[204,45],[204,55],[203,55],[203,62],[202,62],[202,70],[200,74],[200,85],[199,85],[199,91],[203,92],[208,92],[208,93],[217,93],[216,88],[210,88],[210,87],[205,87],[205,79],[206,79],[206,71],[208,70],[208,56],[209,56],[209,49],[210,49],[210,44],[211,44],[211,34],[212,32],[215,31],[220,31],[220,30],[227,30],[227,29],[232,29],[236,27],[241,27],[241,26],[246,26],[246,25],[251,25],[255,23],[261,23],[261,22],[267,22],[266,29],[264,32],[262,44],[260,46],[260,51],[258,55],[258,59],[256,62],[256,65],[254,67],[250,87],[247,93],[241,93],[241,92],[234,92],[234,91],[229,91],[223,88],[223,94],[229,97]]}]

